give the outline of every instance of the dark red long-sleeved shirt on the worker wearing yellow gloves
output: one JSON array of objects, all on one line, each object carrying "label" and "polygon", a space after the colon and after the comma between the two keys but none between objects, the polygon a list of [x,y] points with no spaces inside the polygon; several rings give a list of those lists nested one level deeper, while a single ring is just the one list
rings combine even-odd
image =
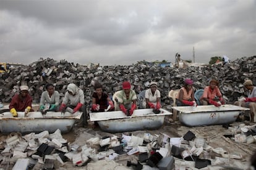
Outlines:
[{"label": "dark red long-sleeved shirt on the worker wearing yellow gloves", "polygon": [[20,97],[19,94],[15,94],[9,108],[10,110],[15,108],[16,111],[25,111],[28,106],[32,107],[32,97],[29,94],[27,94],[27,97]]}]

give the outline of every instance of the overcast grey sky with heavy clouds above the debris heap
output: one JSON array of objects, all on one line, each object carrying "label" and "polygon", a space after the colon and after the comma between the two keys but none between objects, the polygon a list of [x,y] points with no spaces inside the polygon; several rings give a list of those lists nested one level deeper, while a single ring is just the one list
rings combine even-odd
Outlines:
[{"label": "overcast grey sky with heavy clouds above the debris heap", "polygon": [[256,0],[0,1],[0,62],[208,63],[256,55]]}]

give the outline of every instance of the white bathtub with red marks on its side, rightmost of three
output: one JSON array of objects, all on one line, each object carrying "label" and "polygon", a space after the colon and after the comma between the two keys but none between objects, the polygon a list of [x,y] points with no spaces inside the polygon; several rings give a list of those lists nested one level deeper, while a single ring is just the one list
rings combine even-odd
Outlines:
[{"label": "white bathtub with red marks on its side, rightmost of three", "polygon": [[241,111],[249,108],[236,105],[199,105],[197,107],[172,107],[179,113],[179,121],[186,126],[226,124],[236,121]]}]

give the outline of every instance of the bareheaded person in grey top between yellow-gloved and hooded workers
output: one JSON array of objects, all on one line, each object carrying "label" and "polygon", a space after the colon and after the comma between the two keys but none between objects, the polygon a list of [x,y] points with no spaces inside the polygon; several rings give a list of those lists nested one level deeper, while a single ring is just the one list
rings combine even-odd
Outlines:
[{"label": "bareheaded person in grey top between yellow-gloved and hooded workers", "polygon": [[[53,84],[49,83],[45,86],[46,91],[41,94],[40,111],[45,109],[49,111],[59,111],[59,92],[54,90]],[[46,108],[47,106],[49,108]]]}]

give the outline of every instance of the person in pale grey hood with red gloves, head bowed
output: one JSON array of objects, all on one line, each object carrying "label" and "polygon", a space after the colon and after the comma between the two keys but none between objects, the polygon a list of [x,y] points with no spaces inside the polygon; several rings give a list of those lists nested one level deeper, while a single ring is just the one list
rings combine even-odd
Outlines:
[{"label": "person in pale grey hood with red gloves, head bowed", "polygon": [[66,108],[72,108],[73,113],[77,111],[82,111],[82,124],[83,126],[87,125],[87,111],[85,108],[85,95],[83,94],[82,89],[77,87],[74,83],[70,83],[67,86],[67,92],[64,95],[63,102],[61,103],[61,107],[59,107],[59,111],[64,112]]}]

